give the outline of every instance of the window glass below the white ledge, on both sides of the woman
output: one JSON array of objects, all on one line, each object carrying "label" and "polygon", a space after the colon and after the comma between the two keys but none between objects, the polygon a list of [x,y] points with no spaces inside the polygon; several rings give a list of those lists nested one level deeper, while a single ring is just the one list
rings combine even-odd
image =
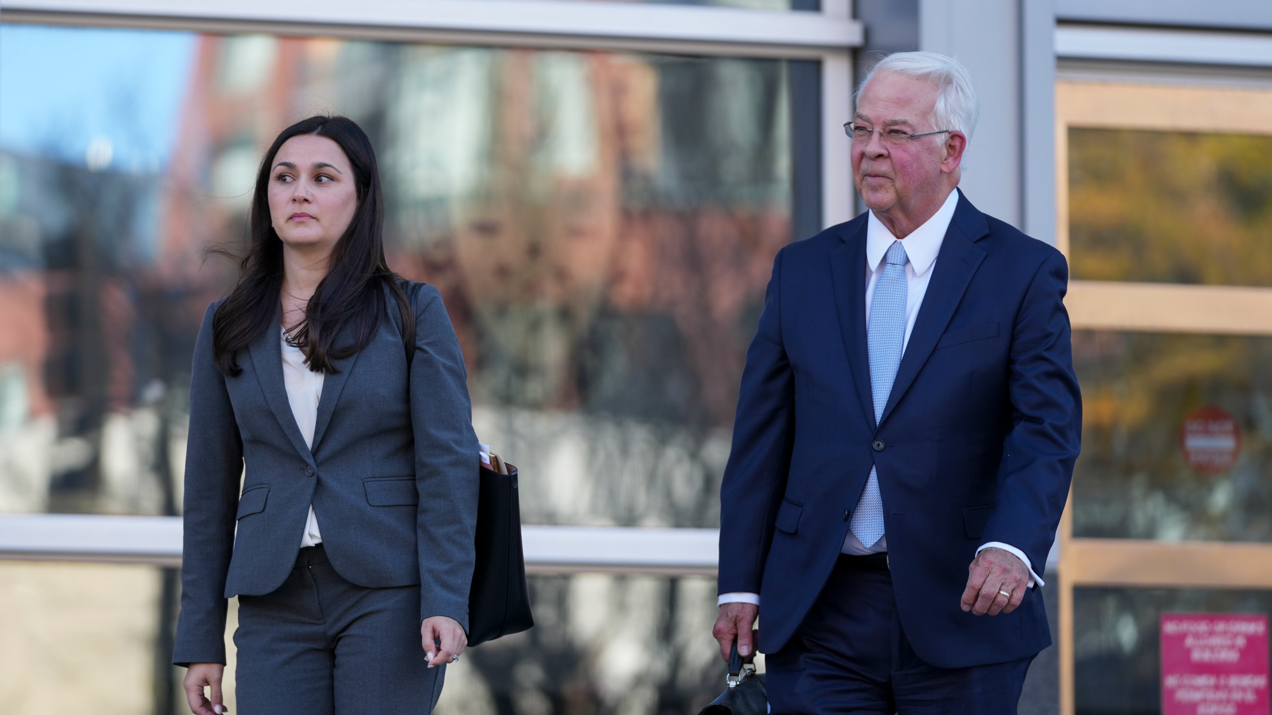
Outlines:
[{"label": "window glass below the white ledge, on both sides of the woman", "polygon": [[[439,715],[696,712],[724,690],[711,639],[715,579],[532,576],[537,625],[473,648],[446,670]],[[176,570],[0,562],[0,701],[10,715],[188,712],[169,665]],[[234,687],[229,602],[225,705]],[[763,670],[763,655],[758,656]]]}]

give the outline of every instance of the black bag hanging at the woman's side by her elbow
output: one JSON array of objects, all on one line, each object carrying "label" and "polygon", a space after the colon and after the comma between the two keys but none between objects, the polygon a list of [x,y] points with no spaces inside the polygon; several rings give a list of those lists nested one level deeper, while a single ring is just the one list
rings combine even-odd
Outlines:
[{"label": "black bag hanging at the woman's side by her elbow", "polygon": [[534,625],[522,550],[522,506],[516,467],[508,475],[481,466],[477,501],[477,559],[468,592],[468,645],[477,645]]}]

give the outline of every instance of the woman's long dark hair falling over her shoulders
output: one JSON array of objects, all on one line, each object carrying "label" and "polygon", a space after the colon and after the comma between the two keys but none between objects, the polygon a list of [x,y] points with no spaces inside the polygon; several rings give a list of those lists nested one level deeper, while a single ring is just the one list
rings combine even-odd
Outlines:
[{"label": "woman's long dark hair falling over her shoulders", "polygon": [[[212,352],[224,375],[243,371],[237,360],[239,350],[262,331],[279,330],[275,318],[282,290],[282,240],[270,221],[268,187],[279,148],[300,135],[326,136],[338,144],[354,169],[357,190],[354,219],[332,249],[329,270],[309,299],[305,321],[291,333],[309,369],[335,373],[335,360],[356,354],[371,341],[385,316],[384,286],[397,299],[403,318],[415,314],[402,290],[402,279],[384,260],[384,192],[371,140],[347,117],[309,117],[282,130],[265,153],[256,174],[251,244],[240,263],[238,284],[212,317]],[[411,345],[415,321],[403,319],[402,323],[403,341]],[[336,338],[345,332],[352,340],[336,346]]]}]

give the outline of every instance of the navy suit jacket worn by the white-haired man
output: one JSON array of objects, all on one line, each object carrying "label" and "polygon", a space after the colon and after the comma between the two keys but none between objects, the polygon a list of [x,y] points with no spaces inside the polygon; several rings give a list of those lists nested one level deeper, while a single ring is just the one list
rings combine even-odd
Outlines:
[{"label": "navy suit jacket worn by the white-haired man", "polygon": [[780,650],[878,464],[915,653],[941,668],[1035,654],[1051,644],[1039,593],[999,616],[959,599],[978,546],[1010,543],[1040,573],[1060,523],[1081,424],[1065,258],[960,193],[876,426],[865,256],[862,214],[773,261],[721,489],[720,593],[759,593],[759,650]]}]

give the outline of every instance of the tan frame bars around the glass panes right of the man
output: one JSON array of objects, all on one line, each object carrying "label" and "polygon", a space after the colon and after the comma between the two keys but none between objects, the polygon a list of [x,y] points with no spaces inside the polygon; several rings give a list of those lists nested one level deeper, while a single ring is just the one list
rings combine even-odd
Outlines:
[{"label": "tan frame bars around the glass panes right of the man", "polygon": [[[1068,130],[1130,128],[1272,135],[1272,89],[1056,81],[1056,238],[1067,258]],[[1272,335],[1272,288],[1071,280],[1074,330]],[[1272,543],[1075,538],[1074,492],[1060,524],[1060,712],[1074,715],[1074,589],[1272,589]]]}]

